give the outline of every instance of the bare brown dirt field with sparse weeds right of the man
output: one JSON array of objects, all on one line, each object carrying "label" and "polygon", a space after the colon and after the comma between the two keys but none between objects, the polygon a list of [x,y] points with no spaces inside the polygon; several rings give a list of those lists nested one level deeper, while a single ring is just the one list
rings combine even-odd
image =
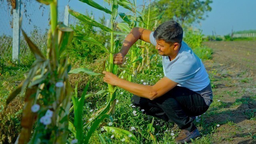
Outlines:
[{"label": "bare brown dirt field with sparse weeds right of the man", "polygon": [[[256,144],[256,41],[204,42],[213,74],[214,101],[206,123],[220,124],[214,144]],[[220,100],[218,102],[218,100]],[[217,102],[216,102],[217,101]]]}]

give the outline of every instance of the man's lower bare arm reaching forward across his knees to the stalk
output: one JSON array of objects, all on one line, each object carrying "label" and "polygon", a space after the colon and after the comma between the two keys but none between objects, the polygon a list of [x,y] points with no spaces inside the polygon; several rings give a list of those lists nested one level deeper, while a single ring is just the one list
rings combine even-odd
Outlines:
[{"label": "man's lower bare arm reaching forward across his knees to the stalk", "polygon": [[131,92],[132,94],[143,98],[148,98],[150,100],[154,100],[155,98],[162,96],[178,84],[170,80],[169,78],[164,77],[156,82],[154,86],[148,86],[123,80],[121,78],[118,78],[111,72],[104,71],[102,73],[105,74],[105,77],[103,78],[104,82],[107,82],[108,84],[111,84],[113,86],[118,86]]}]

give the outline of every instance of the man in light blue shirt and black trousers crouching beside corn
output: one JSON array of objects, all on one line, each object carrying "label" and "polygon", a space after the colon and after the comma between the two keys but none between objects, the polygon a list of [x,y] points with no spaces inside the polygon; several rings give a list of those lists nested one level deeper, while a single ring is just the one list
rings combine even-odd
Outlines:
[{"label": "man in light blue shirt and black trousers crouching beside corn", "polygon": [[164,78],[154,86],[128,82],[110,72],[103,72],[104,82],[134,94],[132,102],[146,114],[176,123],[181,129],[175,138],[177,143],[190,142],[200,136],[193,121],[212,103],[210,79],[204,64],[182,37],[182,27],[175,21],[164,22],[154,32],[133,28],[120,52],[114,55],[114,63],[122,64],[124,56],[138,39],[155,45],[162,56]]}]

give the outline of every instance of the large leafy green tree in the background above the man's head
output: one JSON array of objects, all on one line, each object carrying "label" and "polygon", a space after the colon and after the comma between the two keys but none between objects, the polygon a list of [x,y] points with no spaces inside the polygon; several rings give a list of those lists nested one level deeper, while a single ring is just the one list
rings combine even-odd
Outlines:
[{"label": "large leafy green tree in the background above the man's head", "polygon": [[[163,13],[163,21],[175,20],[182,26],[190,26],[193,22],[204,20],[204,13],[210,12],[212,0],[157,0],[154,4],[158,13]],[[206,15],[207,17],[207,15]]]}]

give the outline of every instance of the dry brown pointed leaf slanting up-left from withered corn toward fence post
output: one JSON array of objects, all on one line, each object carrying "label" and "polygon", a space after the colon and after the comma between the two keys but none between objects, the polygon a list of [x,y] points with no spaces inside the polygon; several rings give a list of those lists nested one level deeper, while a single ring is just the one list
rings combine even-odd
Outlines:
[{"label": "dry brown pointed leaf slanting up-left from withered corn toward fence post", "polygon": [[24,32],[24,30],[22,30],[22,34],[26,40],[26,42],[28,43],[28,46],[32,52],[32,54],[34,54],[36,59],[42,59],[45,60],[44,55],[42,54],[42,52],[36,47],[36,45],[30,40],[30,38],[28,38],[27,34]]}]

